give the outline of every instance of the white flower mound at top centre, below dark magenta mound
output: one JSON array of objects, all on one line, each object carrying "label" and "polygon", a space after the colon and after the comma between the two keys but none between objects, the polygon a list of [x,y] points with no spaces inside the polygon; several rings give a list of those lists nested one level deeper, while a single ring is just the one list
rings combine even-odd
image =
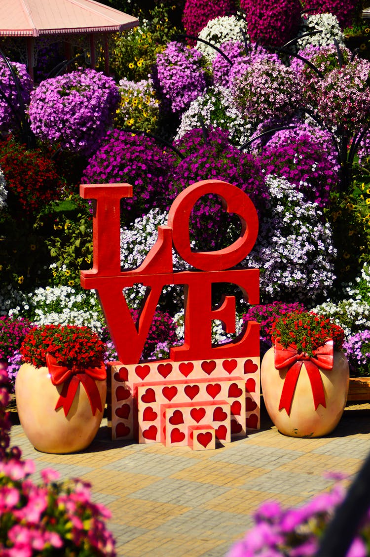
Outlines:
[{"label": "white flower mound at top centre, below dark magenta mound", "polygon": [[[222,43],[226,41],[243,41],[241,30],[246,33],[245,21],[235,16],[220,16],[210,19],[207,25],[200,31],[198,37],[220,48]],[[214,48],[205,45],[201,41],[196,43],[196,50],[202,52],[208,60],[213,60],[218,53]]]}]

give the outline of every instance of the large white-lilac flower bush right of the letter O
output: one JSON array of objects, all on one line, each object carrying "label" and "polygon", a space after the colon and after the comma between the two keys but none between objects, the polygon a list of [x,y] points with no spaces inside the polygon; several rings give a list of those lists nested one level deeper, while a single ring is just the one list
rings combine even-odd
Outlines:
[{"label": "large white-lilac flower bush right of the letter O", "polygon": [[335,277],[332,229],[317,204],[283,178],[267,176],[270,211],[260,219],[255,247],[244,265],[260,268],[267,300],[312,300],[326,296]]}]

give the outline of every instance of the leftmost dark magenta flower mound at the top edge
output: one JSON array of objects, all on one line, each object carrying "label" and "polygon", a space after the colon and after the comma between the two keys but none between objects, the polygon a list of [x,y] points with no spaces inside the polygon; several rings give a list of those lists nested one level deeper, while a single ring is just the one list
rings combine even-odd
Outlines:
[{"label": "leftmost dark magenta flower mound at the top edge", "polygon": [[233,0],[186,0],[182,23],[188,35],[198,35],[210,19],[235,12]]}]

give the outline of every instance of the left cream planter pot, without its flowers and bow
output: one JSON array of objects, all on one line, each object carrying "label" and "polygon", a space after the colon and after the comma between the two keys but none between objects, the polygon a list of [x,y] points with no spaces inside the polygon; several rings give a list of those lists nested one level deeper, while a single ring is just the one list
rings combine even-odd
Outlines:
[{"label": "left cream planter pot, without its flowers and bow", "polygon": [[88,447],[103,417],[106,380],[95,381],[101,411],[92,413],[90,400],[82,383],[78,384],[71,407],[65,416],[63,407],[55,409],[63,385],[53,385],[47,367],[23,364],[16,378],[16,402],[19,421],[29,441],[38,451],[71,453]]}]

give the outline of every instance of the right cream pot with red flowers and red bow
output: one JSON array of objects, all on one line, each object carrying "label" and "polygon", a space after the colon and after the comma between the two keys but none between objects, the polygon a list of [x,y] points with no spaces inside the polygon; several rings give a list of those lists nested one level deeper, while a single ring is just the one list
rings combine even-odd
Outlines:
[{"label": "right cream pot with red flowers and red bow", "polygon": [[274,346],[261,367],[270,418],[285,435],[330,433],[341,419],[348,394],[343,329],[312,311],[292,312],[275,320],[270,334]]}]

